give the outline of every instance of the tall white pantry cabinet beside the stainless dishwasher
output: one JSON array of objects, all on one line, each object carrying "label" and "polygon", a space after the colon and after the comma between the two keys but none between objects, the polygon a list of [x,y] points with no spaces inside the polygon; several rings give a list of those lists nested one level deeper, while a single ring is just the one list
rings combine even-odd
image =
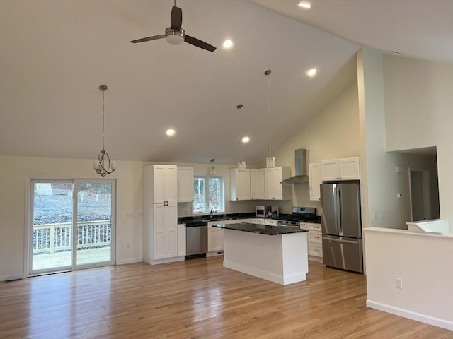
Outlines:
[{"label": "tall white pantry cabinet beside the stainless dishwasher", "polygon": [[[178,168],[143,167],[143,260],[163,263],[178,256]],[[169,260],[173,261],[173,260]]]}]

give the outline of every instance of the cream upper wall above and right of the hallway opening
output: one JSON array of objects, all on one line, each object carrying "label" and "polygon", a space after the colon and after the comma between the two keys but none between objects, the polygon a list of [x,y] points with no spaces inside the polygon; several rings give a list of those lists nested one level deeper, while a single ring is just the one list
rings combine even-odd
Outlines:
[{"label": "cream upper wall above and right of the hallway opening", "polygon": [[387,150],[437,147],[440,217],[453,220],[453,64],[383,62]]}]

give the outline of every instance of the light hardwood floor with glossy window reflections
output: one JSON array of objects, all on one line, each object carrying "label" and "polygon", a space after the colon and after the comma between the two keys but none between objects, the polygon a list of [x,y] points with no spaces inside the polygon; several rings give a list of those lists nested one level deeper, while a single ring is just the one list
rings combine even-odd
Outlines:
[{"label": "light hardwood floor with glossy window reflections", "polygon": [[365,307],[365,276],[309,263],[282,286],[222,256],[0,283],[0,338],[453,338]]}]

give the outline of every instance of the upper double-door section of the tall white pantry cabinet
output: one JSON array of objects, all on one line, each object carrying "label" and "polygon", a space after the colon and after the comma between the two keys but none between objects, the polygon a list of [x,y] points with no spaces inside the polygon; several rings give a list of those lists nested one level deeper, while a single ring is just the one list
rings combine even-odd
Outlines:
[{"label": "upper double-door section of the tall white pantry cabinet", "polygon": [[154,203],[178,202],[178,169],[175,165],[151,165]]}]

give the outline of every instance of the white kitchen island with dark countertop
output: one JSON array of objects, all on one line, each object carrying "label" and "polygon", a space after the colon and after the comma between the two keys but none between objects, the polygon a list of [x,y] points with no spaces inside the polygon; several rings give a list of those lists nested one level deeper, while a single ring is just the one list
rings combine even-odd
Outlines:
[{"label": "white kitchen island with dark countertop", "polygon": [[224,230],[224,267],[280,285],[306,280],[306,230],[249,223],[213,227]]}]

